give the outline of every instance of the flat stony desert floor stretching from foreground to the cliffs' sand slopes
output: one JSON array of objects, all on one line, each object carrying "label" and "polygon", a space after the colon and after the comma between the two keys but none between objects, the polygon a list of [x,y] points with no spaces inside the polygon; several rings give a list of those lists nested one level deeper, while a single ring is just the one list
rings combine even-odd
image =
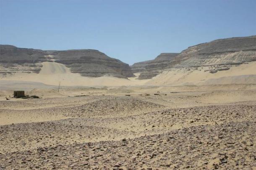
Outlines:
[{"label": "flat stony desert floor stretching from foreground to the cliffs' sand slopes", "polygon": [[256,169],[256,84],[32,86],[0,91],[0,170]]}]

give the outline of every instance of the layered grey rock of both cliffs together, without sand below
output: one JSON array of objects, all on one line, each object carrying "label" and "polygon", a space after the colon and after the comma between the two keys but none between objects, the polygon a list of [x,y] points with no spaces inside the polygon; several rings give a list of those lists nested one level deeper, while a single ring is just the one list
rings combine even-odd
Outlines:
[{"label": "layered grey rock of both cliffs together, without sand below", "polygon": [[181,53],[161,53],[154,60],[131,67],[97,50],[43,51],[0,45],[0,74],[39,73],[42,62],[62,63],[82,76],[127,78],[141,72],[138,79],[151,79],[165,69],[209,66],[210,73],[256,61],[256,36],[225,38],[191,46]]}]

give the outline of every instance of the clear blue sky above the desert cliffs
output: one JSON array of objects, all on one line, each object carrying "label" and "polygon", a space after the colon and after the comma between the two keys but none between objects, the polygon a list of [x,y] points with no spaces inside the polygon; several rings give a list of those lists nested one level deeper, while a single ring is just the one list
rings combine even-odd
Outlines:
[{"label": "clear blue sky above the desert cliffs", "polygon": [[0,44],[97,49],[128,64],[251,35],[256,35],[256,0],[0,0]]}]

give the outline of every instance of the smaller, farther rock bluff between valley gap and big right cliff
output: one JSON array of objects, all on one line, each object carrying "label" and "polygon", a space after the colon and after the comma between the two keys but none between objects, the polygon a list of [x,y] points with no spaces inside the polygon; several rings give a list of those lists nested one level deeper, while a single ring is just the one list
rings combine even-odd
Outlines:
[{"label": "smaller, farther rock bluff between valley gap and big right cliff", "polygon": [[163,69],[167,69],[170,61],[175,59],[179,53],[161,53],[154,60],[134,63],[131,66],[132,72],[141,72],[139,79],[151,79],[159,74]]}]

